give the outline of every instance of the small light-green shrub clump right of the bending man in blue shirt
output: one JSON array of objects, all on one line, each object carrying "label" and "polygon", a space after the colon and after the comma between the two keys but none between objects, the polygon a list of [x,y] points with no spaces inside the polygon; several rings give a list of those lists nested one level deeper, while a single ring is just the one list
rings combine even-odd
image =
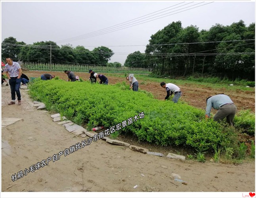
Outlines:
[{"label": "small light-green shrub clump right of the bending man in blue shirt", "polygon": [[234,126],[242,133],[255,135],[255,114],[249,110],[241,110],[234,118]]}]

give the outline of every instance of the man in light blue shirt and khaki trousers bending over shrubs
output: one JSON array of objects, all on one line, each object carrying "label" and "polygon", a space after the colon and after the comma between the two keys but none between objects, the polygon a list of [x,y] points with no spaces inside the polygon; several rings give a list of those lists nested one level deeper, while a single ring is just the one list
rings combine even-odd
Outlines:
[{"label": "man in light blue shirt and khaki trousers bending over shrubs", "polygon": [[208,119],[210,117],[210,112],[213,109],[218,110],[218,112],[213,117],[213,120],[219,121],[224,118],[227,119],[227,123],[230,126],[233,126],[233,119],[235,117],[235,113],[237,112],[237,107],[233,103],[233,101],[224,94],[218,94],[214,96],[210,96],[206,99],[206,112],[205,118]]}]

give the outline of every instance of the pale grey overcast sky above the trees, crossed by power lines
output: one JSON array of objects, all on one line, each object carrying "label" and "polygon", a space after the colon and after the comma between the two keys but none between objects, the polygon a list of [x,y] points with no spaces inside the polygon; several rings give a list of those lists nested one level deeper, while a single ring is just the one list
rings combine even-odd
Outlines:
[{"label": "pale grey overcast sky above the trees, crossed by power lines", "polygon": [[[216,23],[231,25],[231,23],[238,22],[241,19],[245,21],[247,26],[250,23],[255,22],[255,2],[230,1],[213,2],[211,4],[204,5],[210,2],[212,1],[205,1],[201,4],[198,4],[200,3],[199,1],[193,3],[191,3],[191,1],[1,2],[1,42],[5,38],[13,36],[17,41],[23,41],[26,44],[51,40],[53,42],[57,42],[57,45],[59,46],[64,44],[72,44],[73,47],[80,45],[85,46],[85,48],[90,50],[95,47],[87,46],[109,46],[108,48],[112,49],[114,53],[116,53],[111,57],[111,61],[109,62],[118,61],[124,64],[129,53],[133,53],[134,51],[144,52],[145,45],[149,43],[150,36],[173,21],[181,21],[182,27],[197,25],[200,30],[208,30]],[[168,8],[170,6],[173,7]],[[178,6],[181,7],[177,8]],[[194,8],[196,6],[200,7]],[[193,9],[187,10],[189,8]],[[159,10],[165,12],[159,13],[162,12]],[[177,13],[179,11],[183,12]],[[159,14],[148,17],[150,16],[148,15],[150,13]],[[173,15],[163,17],[166,16],[162,15],[164,13],[169,13],[167,15]],[[141,17],[143,15],[147,15],[145,17],[148,18],[142,19],[144,18]],[[96,32],[94,31],[97,30],[124,23],[138,17],[141,17],[138,18],[141,19],[141,21],[149,18],[156,19],[153,17],[159,15],[162,15],[161,17],[163,18],[147,23],[143,23],[146,22],[143,21],[141,22],[143,24],[122,30],[111,29],[117,31],[107,34],[102,34],[104,32],[101,31],[102,35],[95,36]],[[139,21],[135,21],[133,23],[128,22],[128,25],[131,26],[136,22]],[[60,42],[60,40],[81,36],[90,32],[94,32],[94,34],[89,34],[93,35],[93,37],[79,40],[73,39],[69,40],[69,42]],[[144,46],[124,47],[124,45]]]}]

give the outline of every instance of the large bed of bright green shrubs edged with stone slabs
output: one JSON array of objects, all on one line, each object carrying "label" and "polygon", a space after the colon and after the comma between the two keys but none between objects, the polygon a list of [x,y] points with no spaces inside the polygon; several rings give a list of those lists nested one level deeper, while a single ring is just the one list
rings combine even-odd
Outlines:
[{"label": "large bed of bright green shrubs edged with stone slabs", "polygon": [[[133,92],[125,82],[103,86],[36,79],[29,89],[31,96],[44,102],[48,110],[60,112],[76,124],[109,128],[144,112],[145,118],[119,131],[133,133],[140,141],[193,148],[200,154],[222,147],[223,151],[231,149],[232,156],[238,155],[237,137],[230,138],[237,132],[211,119],[204,120],[203,110],[182,102],[159,101],[145,91]],[[239,117],[235,121],[240,123],[238,129],[243,132],[251,134],[255,129],[255,121],[245,125]]]}]

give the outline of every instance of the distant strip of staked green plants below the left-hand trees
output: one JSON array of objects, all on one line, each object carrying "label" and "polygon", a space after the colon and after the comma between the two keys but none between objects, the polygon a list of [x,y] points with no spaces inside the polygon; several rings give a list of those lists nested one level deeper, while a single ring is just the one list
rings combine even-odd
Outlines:
[{"label": "distant strip of staked green plants below the left-hand trees", "polygon": [[144,68],[128,68],[128,67],[108,67],[97,65],[71,65],[71,64],[47,64],[47,63],[24,63],[24,67],[29,70],[41,71],[64,71],[72,70],[74,72],[88,72],[89,69],[104,73],[140,73],[149,74],[150,70]]}]

